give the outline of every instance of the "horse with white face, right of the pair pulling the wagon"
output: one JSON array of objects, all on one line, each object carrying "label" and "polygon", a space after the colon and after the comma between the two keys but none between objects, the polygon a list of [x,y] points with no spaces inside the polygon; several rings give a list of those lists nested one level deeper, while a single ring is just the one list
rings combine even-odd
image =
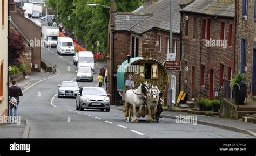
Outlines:
[{"label": "horse with white face, right of the pair pulling the wagon", "polygon": [[147,122],[152,123],[153,119],[156,118],[160,90],[158,89],[157,86],[152,86],[149,89],[149,93],[151,96],[147,98],[147,110],[148,110]]}]

